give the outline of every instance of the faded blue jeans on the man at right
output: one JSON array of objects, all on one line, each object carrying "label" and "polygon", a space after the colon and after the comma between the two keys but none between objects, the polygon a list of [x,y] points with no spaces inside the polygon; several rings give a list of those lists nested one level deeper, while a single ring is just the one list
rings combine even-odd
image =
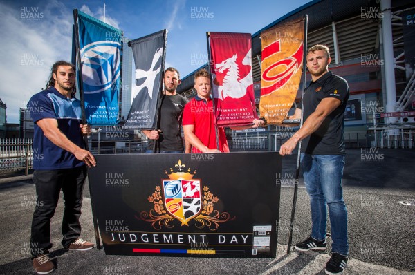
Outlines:
[{"label": "faded blue jeans on the man at right", "polygon": [[332,252],[347,255],[347,209],[343,200],[344,155],[301,154],[304,184],[310,196],[311,237],[326,238],[327,206],[331,225]]}]

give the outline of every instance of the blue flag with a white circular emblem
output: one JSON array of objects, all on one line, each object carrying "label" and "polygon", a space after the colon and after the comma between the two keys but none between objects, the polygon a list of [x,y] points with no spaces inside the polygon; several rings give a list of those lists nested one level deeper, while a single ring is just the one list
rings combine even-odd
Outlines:
[{"label": "blue flag with a white circular emblem", "polygon": [[115,125],[118,122],[122,31],[79,11],[76,23],[82,64],[82,75],[79,72],[77,75],[82,81],[80,89],[86,122]]}]

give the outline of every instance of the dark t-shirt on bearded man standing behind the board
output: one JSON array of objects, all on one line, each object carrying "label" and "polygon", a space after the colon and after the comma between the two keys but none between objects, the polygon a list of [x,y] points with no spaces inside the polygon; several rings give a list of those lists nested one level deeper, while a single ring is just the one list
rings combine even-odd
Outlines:
[{"label": "dark t-shirt on bearded man standing behind the board", "polygon": [[[176,95],[163,95],[160,99],[160,133],[158,142],[160,151],[184,151],[183,138],[181,136],[181,120],[183,108],[188,100],[176,93]],[[153,141],[149,143],[149,149],[153,149]]]}]

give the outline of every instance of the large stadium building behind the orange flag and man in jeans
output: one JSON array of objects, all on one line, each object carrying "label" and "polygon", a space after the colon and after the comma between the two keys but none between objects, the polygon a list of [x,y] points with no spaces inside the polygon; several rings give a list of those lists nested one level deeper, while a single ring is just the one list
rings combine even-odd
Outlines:
[{"label": "large stadium building behind the orange flag and man in jeans", "polygon": [[[351,96],[344,122],[347,147],[414,148],[414,1],[314,0],[255,32],[252,76],[257,104],[261,90],[261,32],[304,15],[308,15],[307,48],[315,44],[329,46],[329,70],[349,83]],[[207,67],[205,64],[201,68]],[[182,79],[178,93],[194,97],[193,77],[197,70]],[[306,79],[311,79],[308,73]],[[301,93],[298,91],[296,102]],[[268,126],[264,131],[227,129],[227,134],[232,151],[277,150],[289,138],[289,131]]]}]

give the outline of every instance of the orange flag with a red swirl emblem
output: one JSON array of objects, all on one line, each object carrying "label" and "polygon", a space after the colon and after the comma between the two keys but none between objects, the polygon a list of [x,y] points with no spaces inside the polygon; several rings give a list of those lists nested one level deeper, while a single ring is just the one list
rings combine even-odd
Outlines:
[{"label": "orange flag with a red swirl emblem", "polygon": [[261,100],[267,124],[282,124],[293,106],[302,76],[304,21],[297,19],[261,32]]}]

